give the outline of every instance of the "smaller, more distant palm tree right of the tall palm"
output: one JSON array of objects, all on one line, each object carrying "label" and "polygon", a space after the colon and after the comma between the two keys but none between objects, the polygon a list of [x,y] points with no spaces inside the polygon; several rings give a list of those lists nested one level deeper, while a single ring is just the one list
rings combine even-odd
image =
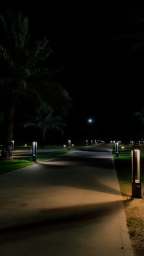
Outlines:
[{"label": "smaller, more distant palm tree right of the tall palm", "polygon": [[34,126],[38,128],[43,137],[43,145],[45,145],[45,137],[48,130],[59,130],[63,134],[62,127],[65,126],[60,116],[53,116],[54,109],[48,103],[41,101],[40,106],[35,109],[36,117],[31,116],[31,120],[24,123],[24,128]]}]

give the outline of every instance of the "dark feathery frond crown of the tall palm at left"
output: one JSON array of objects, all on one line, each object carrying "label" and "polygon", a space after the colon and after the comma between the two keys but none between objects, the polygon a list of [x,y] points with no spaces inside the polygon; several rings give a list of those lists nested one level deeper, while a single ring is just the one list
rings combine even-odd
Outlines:
[{"label": "dark feathery frond crown of the tall palm at left", "polygon": [[48,75],[48,68],[40,67],[40,63],[48,59],[52,53],[48,38],[31,43],[28,33],[28,16],[21,13],[14,15],[7,12],[0,15],[5,40],[0,44],[1,62],[4,62],[5,73],[1,74],[1,88],[7,95],[15,99],[24,92],[31,90],[32,78]]}]

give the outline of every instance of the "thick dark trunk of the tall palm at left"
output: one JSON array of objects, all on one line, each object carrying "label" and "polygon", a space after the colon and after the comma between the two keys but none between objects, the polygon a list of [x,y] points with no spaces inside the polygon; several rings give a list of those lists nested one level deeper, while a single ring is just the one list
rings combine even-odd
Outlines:
[{"label": "thick dark trunk of the tall palm at left", "polygon": [[1,159],[12,159],[14,113],[15,113],[15,104],[11,103],[6,114],[5,133],[4,133],[4,140],[2,142]]}]

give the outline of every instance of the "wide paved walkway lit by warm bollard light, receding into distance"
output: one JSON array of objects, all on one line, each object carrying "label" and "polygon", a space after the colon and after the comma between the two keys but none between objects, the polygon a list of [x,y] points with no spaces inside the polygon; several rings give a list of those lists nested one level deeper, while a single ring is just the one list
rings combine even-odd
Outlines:
[{"label": "wide paved walkway lit by warm bollard light, receding into distance", "polygon": [[132,256],[109,147],[0,176],[1,256]]}]

